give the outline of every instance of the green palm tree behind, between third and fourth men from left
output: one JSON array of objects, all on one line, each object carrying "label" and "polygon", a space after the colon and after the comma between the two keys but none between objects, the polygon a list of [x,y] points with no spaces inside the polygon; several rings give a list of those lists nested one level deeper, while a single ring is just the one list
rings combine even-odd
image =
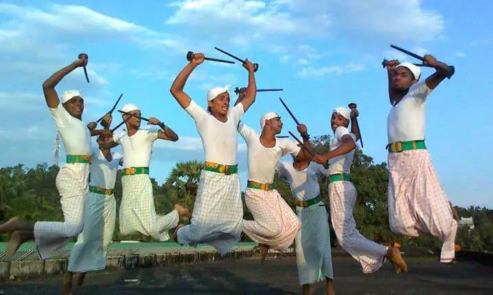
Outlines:
[{"label": "green palm tree behind, between third and fourth men from left", "polygon": [[171,188],[170,193],[175,195],[189,210],[194,209],[200,171],[203,168],[203,162],[196,160],[178,162],[166,179],[165,186]]}]

